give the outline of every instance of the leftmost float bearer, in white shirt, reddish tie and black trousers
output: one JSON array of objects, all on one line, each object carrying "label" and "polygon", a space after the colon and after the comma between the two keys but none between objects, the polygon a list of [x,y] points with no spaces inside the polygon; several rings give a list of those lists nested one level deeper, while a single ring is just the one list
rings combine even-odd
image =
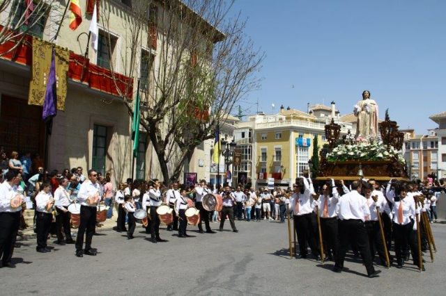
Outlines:
[{"label": "leftmost float bearer, in white shirt, reddish tie and black trousers", "polygon": [[313,198],[309,183],[304,177],[296,179],[290,202],[291,208],[293,208],[293,222],[300,249],[300,254],[297,258],[307,258],[307,242],[310,249],[312,249],[312,254],[319,258],[316,233],[312,223]]}]

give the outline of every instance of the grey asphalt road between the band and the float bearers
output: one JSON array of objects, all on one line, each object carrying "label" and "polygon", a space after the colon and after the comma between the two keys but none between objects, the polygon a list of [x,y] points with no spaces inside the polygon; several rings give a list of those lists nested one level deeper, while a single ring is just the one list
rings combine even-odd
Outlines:
[{"label": "grey asphalt road between the band and the float bearers", "polygon": [[[446,225],[432,224],[436,238],[435,263],[426,258],[426,272],[414,265],[377,267],[380,277],[365,277],[362,263],[347,258],[341,274],[332,262],[290,259],[286,224],[236,222],[215,234],[196,233],[178,238],[162,229],[168,242],[153,244],[141,229],[134,240],[104,231],[93,237],[98,256],[74,255],[74,246],[35,251],[35,240],[15,249],[16,268],[1,268],[1,295],[445,295]],[[217,224],[212,227],[217,229]],[[55,240],[52,239],[51,241]]]}]

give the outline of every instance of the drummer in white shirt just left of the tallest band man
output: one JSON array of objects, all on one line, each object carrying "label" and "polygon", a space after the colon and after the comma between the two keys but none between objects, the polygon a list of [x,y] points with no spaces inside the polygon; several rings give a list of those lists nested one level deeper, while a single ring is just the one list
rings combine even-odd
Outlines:
[{"label": "drummer in white shirt just left of the tallest band man", "polygon": [[[70,193],[66,190],[68,186],[68,179],[61,177],[59,179],[59,187],[54,191],[54,202],[59,202],[56,206],[56,224],[57,224],[57,242],[58,245],[74,244],[75,241],[71,238],[70,220],[71,214],[68,212],[70,206]],[[63,240],[63,232],[66,240]]]}]

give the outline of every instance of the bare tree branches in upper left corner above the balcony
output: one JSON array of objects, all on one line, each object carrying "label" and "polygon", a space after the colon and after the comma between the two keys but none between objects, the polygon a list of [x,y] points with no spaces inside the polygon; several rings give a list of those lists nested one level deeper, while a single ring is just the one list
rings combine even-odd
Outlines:
[{"label": "bare tree branches in upper left corner above the balcony", "polygon": [[56,0],[0,0],[0,44],[14,41],[13,47],[0,51],[0,56],[14,51],[34,29],[44,30],[45,20]]}]

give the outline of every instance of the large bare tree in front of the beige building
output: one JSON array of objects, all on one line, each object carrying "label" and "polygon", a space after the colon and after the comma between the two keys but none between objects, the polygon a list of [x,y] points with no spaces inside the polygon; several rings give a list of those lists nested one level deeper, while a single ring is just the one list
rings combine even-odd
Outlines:
[{"label": "large bare tree in front of the beige building", "polygon": [[[129,37],[121,65],[124,74],[135,79],[141,75],[139,63],[147,63],[150,70],[142,77],[146,81],[141,81],[145,108],[141,108],[140,124],[166,183],[178,179],[195,147],[213,138],[217,123],[259,87],[256,73],[264,54],[245,35],[240,15],[229,17],[232,4],[226,0],[132,1],[132,19],[123,20]],[[111,22],[105,6],[104,28],[110,28]],[[141,47],[155,50],[156,56],[139,61]],[[130,99],[125,92],[122,97],[132,115]]]}]

